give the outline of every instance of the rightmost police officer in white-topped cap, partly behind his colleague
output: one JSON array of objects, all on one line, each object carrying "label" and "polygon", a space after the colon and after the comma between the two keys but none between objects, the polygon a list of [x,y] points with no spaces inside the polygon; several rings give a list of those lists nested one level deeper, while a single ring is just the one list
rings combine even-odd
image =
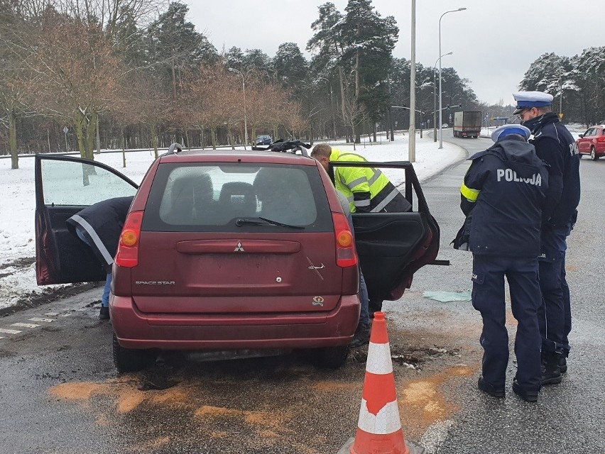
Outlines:
[{"label": "rightmost police officer in white-topped cap, partly behind his colleague", "polygon": [[543,306],[538,311],[542,334],[542,384],[556,384],[567,371],[572,329],[569,287],[565,279],[567,237],[577,218],[580,198],[577,144],[551,111],[552,96],[543,92],[518,92],[518,114],[533,134],[530,143],[540,159],[550,165],[550,197],[545,206],[540,251],[540,288]]}]

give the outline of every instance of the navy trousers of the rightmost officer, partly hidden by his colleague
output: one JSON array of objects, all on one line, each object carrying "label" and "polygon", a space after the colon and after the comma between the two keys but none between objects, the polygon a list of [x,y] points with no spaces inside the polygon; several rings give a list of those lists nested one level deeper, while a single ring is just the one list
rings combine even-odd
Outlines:
[{"label": "navy trousers of the rightmost officer, partly hidden by his colleague", "polygon": [[565,279],[565,251],[572,226],[543,231],[540,255],[542,305],[538,309],[542,349],[547,353],[569,353],[567,336],[572,330],[569,287]]}]

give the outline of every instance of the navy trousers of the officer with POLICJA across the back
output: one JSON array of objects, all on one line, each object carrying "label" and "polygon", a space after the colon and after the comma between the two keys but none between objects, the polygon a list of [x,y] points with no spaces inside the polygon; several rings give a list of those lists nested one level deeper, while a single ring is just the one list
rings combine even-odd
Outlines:
[{"label": "navy trousers of the officer with POLICJA across the back", "polygon": [[472,301],[483,318],[481,346],[484,348],[482,374],[496,389],[503,389],[508,365],[508,331],[504,277],[511,291],[511,309],[518,321],[515,355],[517,382],[526,391],[538,391],[540,369],[540,330],[538,307],[541,304],[538,283],[538,258],[473,256]]}]

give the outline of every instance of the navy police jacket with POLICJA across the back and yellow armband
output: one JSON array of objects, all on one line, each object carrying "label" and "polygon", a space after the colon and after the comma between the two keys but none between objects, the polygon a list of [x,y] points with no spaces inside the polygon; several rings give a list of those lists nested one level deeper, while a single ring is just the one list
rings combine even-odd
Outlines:
[{"label": "navy police jacket with POLICJA across the back and yellow armband", "polygon": [[467,220],[459,232],[467,238],[458,243],[467,240],[474,254],[538,257],[548,166],[516,135],[469,160],[460,203]]}]

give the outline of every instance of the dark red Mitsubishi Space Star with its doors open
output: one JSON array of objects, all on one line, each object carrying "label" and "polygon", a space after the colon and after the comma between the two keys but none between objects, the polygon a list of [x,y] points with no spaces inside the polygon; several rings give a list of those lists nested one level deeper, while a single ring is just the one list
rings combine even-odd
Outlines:
[{"label": "dark red Mitsubishi Space Star with its doors open", "polygon": [[409,162],[390,167],[405,172],[405,196],[418,206],[354,214],[353,242],[327,172],[304,148],[175,150],[140,187],[100,162],[36,155],[38,284],[103,280],[65,221],[135,195],[109,302],[119,372],[150,365],[158,349],[304,348],[317,365],[339,367],[359,321],[359,261],[370,297],[396,300],[435,260],[439,226]]}]

